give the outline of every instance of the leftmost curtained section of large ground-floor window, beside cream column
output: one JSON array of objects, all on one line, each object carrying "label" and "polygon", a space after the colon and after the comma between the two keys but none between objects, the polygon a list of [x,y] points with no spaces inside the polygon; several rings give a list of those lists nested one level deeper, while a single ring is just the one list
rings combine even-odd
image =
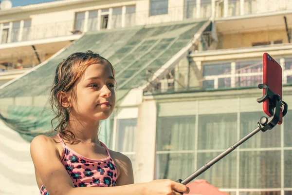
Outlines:
[{"label": "leftmost curtained section of large ground-floor window, beside cream column", "polygon": [[157,120],[156,178],[185,178],[194,170],[196,116],[159,117]]}]

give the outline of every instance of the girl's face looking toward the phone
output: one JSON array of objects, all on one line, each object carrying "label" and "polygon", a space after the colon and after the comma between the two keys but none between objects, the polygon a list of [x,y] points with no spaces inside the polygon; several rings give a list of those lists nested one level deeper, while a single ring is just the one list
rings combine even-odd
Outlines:
[{"label": "girl's face looking toward the phone", "polygon": [[115,106],[115,79],[110,65],[91,64],[76,81],[72,98],[72,114],[78,119],[104,120]]}]

